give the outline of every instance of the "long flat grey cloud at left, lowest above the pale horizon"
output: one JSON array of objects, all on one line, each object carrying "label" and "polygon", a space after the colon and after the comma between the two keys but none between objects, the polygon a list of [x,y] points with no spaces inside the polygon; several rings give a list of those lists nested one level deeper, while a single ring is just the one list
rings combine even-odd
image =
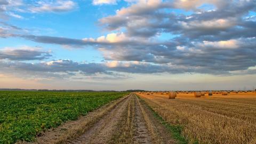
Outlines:
[{"label": "long flat grey cloud at left, lowest above the pale horizon", "polygon": [[37,63],[0,60],[0,66],[2,73],[10,73],[25,78],[68,78],[79,73],[84,75],[105,73],[105,69],[100,63],[79,63],[72,60],[52,60]]}]

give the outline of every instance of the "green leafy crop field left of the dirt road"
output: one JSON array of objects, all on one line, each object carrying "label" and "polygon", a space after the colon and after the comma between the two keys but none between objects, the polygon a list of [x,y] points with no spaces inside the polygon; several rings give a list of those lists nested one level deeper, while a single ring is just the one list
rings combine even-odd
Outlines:
[{"label": "green leafy crop field left of the dirt road", "polygon": [[118,99],[125,92],[0,91],[0,143],[36,135]]}]

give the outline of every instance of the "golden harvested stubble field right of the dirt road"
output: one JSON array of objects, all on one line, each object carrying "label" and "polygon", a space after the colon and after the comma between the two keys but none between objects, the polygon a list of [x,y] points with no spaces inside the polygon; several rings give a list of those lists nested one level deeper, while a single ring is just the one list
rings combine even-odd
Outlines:
[{"label": "golden harvested stubble field right of the dirt road", "polygon": [[213,94],[137,93],[163,119],[182,125],[182,134],[199,143],[256,143],[256,93]]}]

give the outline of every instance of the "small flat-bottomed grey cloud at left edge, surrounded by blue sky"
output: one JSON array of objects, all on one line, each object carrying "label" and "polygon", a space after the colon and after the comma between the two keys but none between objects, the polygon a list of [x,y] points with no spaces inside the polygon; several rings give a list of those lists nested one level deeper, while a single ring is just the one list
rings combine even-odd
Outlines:
[{"label": "small flat-bottomed grey cloud at left edge, surrounded by blue sky", "polygon": [[35,47],[24,46],[20,49],[5,48],[0,50],[0,59],[8,60],[44,60],[49,59],[50,52],[44,52]]}]

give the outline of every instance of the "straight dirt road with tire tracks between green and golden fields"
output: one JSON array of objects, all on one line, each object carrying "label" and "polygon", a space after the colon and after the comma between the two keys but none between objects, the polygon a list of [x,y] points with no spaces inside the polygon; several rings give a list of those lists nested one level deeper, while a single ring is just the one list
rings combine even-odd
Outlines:
[{"label": "straight dirt road with tire tracks between green and golden fields", "polygon": [[45,132],[36,143],[175,143],[135,94]]}]

